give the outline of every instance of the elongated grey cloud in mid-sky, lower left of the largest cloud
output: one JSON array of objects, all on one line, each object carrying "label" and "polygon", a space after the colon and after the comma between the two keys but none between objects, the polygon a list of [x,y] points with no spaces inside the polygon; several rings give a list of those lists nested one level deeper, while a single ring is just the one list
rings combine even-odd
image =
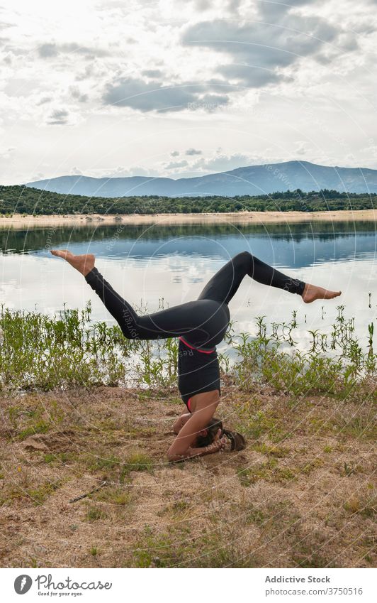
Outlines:
[{"label": "elongated grey cloud in mid-sky, lower left of the largest cloud", "polygon": [[177,84],[162,86],[158,82],[145,82],[134,77],[123,77],[106,86],[103,103],[117,107],[130,107],[141,112],[176,112],[184,109],[203,109],[213,112],[229,102],[225,94],[209,94],[212,85]]}]

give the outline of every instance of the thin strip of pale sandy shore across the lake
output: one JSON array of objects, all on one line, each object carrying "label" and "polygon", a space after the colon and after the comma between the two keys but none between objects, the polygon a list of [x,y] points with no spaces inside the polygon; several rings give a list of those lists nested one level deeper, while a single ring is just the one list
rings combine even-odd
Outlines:
[{"label": "thin strip of pale sandy shore across the lake", "polygon": [[12,227],[61,227],[137,224],[214,224],[230,222],[232,224],[272,224],[291,222],[356,222],[360,220],[375,222],[376,210],[335,210],[327,212],[228,212],[218,214],[65,214],[11,217],[0,216],[0,228]]}]

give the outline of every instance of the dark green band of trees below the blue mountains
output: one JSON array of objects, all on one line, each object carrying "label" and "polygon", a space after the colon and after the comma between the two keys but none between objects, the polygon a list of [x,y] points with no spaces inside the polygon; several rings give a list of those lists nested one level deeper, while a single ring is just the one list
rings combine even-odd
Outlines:
[{"label": "dark green band of trees below the blue mountains", "polygon": [[320,191],[274,192],[270,195],[223,197],[85,197],[62,195],[26,186],[0,185],[0,214],[157,214],[224,212],[319,212],[370,210],[376,207],[376,193],[356,194],[323,189]]}]

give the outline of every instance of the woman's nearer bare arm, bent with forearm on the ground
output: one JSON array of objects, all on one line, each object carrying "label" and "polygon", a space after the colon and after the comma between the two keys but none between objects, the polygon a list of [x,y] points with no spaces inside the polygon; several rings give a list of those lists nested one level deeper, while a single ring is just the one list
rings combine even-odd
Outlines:
[{"label": "woman's nearer bare arm, bent with forearm on the ground", "polygon": [[205,448],[191,448],[191,444],[196,440],[198,433],[206,428],[208,421],[213,417],[218,403],[218,391],[208,391],[198,394],[195,412],[188,420],[185,420],[183,427],[168,450],[169,461],[209,455],[213,452],[218,452],[223,447],[221,440],[215,440],[213,445],[206,446]]}]

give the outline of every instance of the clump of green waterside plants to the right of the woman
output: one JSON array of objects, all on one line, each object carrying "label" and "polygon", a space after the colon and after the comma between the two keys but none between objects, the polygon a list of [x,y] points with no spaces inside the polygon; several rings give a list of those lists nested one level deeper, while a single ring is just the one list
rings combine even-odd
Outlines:
[{"label": "clump of green waterside plants to the right of the woman", "polygon": [[293,339],[298,327],[296,313],[288,324],[274,322],[271,332],[265,317],[257,317],[257,336],[241,333],[233,341],[237,352],[232,369],[235,383],[246,391],[264,382],[279,391],[305,394],[351,391],[356,383],[375,379],[373,323],[368,325],[368,347],[364,351],[356,338],[354,318],[344,317],[343,305],[337,310],[330,333],[308,331],[312,335],[308,350],[298,349]]}]

